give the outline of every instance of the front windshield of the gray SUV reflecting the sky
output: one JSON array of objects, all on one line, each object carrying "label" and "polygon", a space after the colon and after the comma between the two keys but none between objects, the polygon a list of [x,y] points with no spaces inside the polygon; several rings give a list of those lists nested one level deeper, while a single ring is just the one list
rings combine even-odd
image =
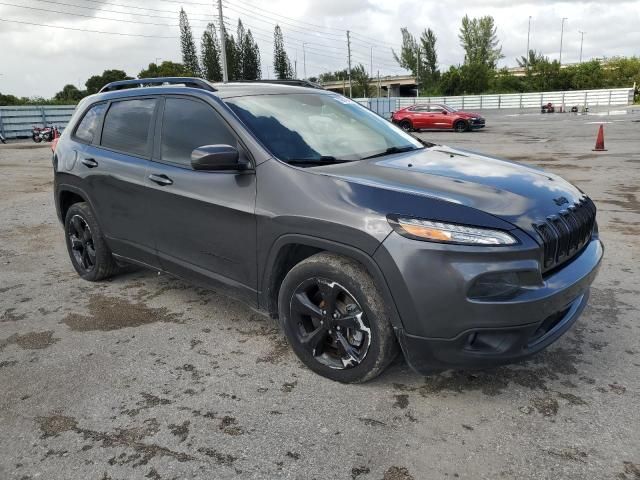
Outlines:
[{"label": "front windshield of the gray SUV reflecting the sky", "polygon": [[423,148],[415,138],[340,95],[256,95],[225,102],[273,155],[297,165]]}]

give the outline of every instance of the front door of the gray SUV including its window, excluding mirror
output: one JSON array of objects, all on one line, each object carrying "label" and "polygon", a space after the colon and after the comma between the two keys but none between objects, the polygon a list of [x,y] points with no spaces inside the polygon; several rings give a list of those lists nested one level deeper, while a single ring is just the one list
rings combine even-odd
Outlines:
[{"label": "front door of the gray SUV including its window, excluding mirror", "polygon": [[227,287],[255,303],[255,173],[191,168],[191,152],[204,145],[232,145],[241,156],[248,153],[203,100],[167,96],[161,110],[146,174],[160,264],[168,272],[217,289]]}]

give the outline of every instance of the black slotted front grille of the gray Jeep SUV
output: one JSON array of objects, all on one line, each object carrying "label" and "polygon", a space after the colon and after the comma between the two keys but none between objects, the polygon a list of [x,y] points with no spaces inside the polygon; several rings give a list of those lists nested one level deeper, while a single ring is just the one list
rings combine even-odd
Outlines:
[{"label": "black slotted front grille of the gray Jeep SUV", "polygon": [[544,271],[551,270],[578,253],[589,240],[596,221],[596,206],[588,197],[533,225],[542,239]]}]

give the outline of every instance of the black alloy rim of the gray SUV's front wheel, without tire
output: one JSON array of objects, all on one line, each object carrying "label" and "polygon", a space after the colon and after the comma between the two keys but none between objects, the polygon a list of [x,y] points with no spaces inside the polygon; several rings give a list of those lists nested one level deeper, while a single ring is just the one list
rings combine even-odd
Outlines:
[{"label": "black alloy rim of the gray SUV's front wheel, without tire", "polygon": [[336,370],[362,363],[371,345],[371,328],[362,307],[337,282],[310,278],[291,298],[291,320],[298,342],[319,363]]}]

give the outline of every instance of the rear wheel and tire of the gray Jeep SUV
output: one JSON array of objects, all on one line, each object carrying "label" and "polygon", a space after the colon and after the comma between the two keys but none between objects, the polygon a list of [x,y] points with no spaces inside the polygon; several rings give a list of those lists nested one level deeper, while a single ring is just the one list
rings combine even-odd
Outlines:
[{"label": "rear wheel and tire of the gray Jeep SUV", "polygon": [[71,264],[80,277],[97,282],[118,271],[118,265],[88,203],[74,203],[69,207],[64,231]]}]

